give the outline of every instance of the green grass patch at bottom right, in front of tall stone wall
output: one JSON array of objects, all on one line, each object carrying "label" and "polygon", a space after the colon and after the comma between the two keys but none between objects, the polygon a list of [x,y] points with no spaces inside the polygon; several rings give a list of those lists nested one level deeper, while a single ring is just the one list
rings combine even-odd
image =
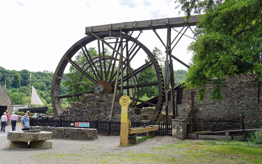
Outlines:
[{"label": "green grass patch at bottom right, in front of tall stone wall", "polygon": [[189,163],[262,163],[262,146],[239,141],[184,140],[154,150],[178,152]]}]

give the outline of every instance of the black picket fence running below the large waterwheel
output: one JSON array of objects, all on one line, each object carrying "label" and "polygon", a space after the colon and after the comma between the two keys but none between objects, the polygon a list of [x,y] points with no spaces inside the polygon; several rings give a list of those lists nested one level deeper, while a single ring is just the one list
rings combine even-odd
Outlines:
[{"label": "black picket fence running below the large waterwheel", "polygon": [[[79,122],[84,122],[84,123],[88,122],[89,123],[89,127],[81,127],[81,128],[97,129],[98,132],[102,132],[102,133],[107,132],[107,128],[109,124],[109,121],[65,120],[65,119],[54,119],[50,117],[42,117],[42,118],[30,119],[30,126],[80,128],[80,127],[75,126],[76,123],[79,123]],[[166,129],[166,123],[156,123],[155,125],[158,125],[158,131],[155,131],[155,135],[172,136],[172,123],[168,124],[168,129]],[[145,127],[145,126],[149,126],[149,123],[131,121],[131,128]],[[111,134],[120,133],[120,121],[111,121],[110,133]]]}]

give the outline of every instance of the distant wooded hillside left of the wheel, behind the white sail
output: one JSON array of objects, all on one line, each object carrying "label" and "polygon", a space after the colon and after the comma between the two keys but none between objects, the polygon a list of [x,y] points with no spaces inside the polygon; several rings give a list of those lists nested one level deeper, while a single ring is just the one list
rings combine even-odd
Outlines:
[{"label": "distant wooded hillside left of the wheel, behind the white sail", "polygon": [[[15,104],[28,104],[30,74],[31,84],[36,89],[44,105],[52,105],[51,86],[53,72],[47,70],[43,72],[30,72],[26,69],[16,71],[0,67],[0,83],[2,86],[6,84],[6,92]],[[67,87],[62,85],[60,92],[66,94],[68,92]]]}]

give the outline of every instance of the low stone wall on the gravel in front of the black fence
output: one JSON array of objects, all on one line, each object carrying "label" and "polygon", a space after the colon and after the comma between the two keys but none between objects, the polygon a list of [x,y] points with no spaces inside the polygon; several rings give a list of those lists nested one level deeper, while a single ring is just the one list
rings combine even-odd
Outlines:
[{"label": "low stone wall on the gravel in front of the black fence", "polygon": [[97,139],[96,129],[30,127],[30,130],[51,131],[53,132],[53,138],[91,139],[91,140]]}]

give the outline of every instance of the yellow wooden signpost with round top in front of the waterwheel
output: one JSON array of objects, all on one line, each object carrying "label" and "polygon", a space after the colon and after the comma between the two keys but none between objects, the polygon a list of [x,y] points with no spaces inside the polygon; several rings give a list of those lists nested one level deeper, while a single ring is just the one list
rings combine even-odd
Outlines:
[{"label": "yellow wooden signpost with round top in front of the waterwheel", "polygon": [[127,112],[128,105],[130,104],[130,98],[127,95],[121,96],[119,99],[121,105],[121,126],[120,126],[120,142],[119,146],[127,146],[128,142],[128,130],[131,125]]}]

